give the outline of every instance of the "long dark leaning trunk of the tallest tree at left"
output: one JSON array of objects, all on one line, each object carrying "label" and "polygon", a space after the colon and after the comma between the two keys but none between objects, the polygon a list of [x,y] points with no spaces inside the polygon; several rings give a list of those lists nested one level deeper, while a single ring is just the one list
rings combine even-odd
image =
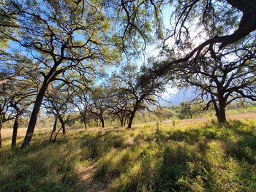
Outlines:
[{"label": "long dark leaning trunk of the tallest tree at left", "polygon": [[39,90],[39,93],[37,94],[37,99],[34,102],[34,108],[32,110],[31,117],[29,120],[29,126],[26,131],[26,136],[23,140],[23,144],[21,145],[21,148],[27,147],[33,137],[34,127],[36,126],[36,123],[37,123],[37,116],[42,104],[42,99],[45,96],[45,91],[47,90],[47,88],[48,88],[48,81],[45,80],[44,83],[42,84],[42,87]]}]

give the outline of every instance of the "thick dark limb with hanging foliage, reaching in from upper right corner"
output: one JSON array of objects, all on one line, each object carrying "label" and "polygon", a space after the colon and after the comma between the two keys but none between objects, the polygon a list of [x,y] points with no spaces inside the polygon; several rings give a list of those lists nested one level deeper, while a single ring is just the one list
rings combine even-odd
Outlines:
[{"label": "thick dark limb with hanging foliage, reaching in from upper right corner", "polygon": [[[182,55],[180,58],[162,62],[162,65],[151,72],[152,77],[166,75],[172,70],[173,65],[187,61],[196,62],[201,55],[211,53],[213,50],[216,52],[246,38],[255,37],[255,0],[121,0],[121,12],[126,15],[124,35],[134,36],[135,33],[127,33],[128,29],[138,31],[140,34],[140,28],[148,26],[147,22],[141,18],[147,18],[147,20],[154,18],[154,25],[148,27],[151,29],[156,27],[156,31],[161,31],[158,28],[161,28],[162,9],[166,8],[166,5],[168,9],[174,8],[174,11],[170,17],[170,28],[163,32],[165,37],[162,47],[164,49],[170,47],[170,42],[167,40],[172,39],[174,43],[171,49],[178,50]],[[148,11],[147,15],[141,14],[144,7]],[[197,34],[191,39],[191,32],[195,30],[192,26],[195,26]],[[197,41],[202,34],[206,34],[206,40],[195,46],[193,39]],[[143,34],[141,37],[144,41],[146,40]]]}]

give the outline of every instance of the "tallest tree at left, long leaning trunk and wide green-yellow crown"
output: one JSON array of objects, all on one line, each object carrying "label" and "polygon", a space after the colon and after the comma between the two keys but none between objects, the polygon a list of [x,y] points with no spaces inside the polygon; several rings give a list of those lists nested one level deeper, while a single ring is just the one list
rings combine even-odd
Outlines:
[{"label": "tallest tree at left, long leaning trunk and wide green-yellow crown", "polygon": [[[50,83],[62,80],[65,72],[79,70],[90,61],[110,62],[117,58],[110,21],[95,1],[4,1],[1,12],[15,23],[1,25],[0,33],[18,43],[34,61],[42,75],[22,147],[29,145],[37,115]],[[6,28],[17,30],[14,34]],[[9,31],[10,31],[9,30]]]}]

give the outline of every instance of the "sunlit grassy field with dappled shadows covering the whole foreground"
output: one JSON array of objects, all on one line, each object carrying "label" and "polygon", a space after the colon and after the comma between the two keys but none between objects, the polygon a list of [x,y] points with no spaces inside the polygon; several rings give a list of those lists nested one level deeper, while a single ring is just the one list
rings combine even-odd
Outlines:
[{"label": "sunlit grassy field with dappled shadows covering the whole foreground", "polygon": [[56,143],[49,131],[12,150],[3,129],[0,191],[256,191],[255,113],[222,126],[202,118],[72,129]]}]

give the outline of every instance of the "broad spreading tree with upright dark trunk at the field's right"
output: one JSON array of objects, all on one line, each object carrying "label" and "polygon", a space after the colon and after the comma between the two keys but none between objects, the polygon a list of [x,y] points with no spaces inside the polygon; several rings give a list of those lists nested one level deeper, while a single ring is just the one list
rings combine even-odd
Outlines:
[{"label": "broad spreading tree with upright dark trunk at the field's right", "polygon": [[198,98],[208,101],[219,123],[226,121],[225,108],[233,101],[251,99],[256,101],[255,46],[225,49],[212,58],[201,57],[199,61],[185,63],[174,69],[176,85],[195,86]]}]

